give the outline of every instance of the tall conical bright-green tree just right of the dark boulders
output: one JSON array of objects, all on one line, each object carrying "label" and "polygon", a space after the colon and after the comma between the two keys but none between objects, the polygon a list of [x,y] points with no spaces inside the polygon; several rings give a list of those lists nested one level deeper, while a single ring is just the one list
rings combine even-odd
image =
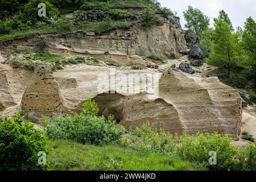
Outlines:
[{"label": "tall conical bright-green tree just right of the dark boulders", "polygon": [[236,67],[239,60],[238,32],[235,34],[232,23],[225,11],[214,18],[213,43],[208,63],[228,71]]}]

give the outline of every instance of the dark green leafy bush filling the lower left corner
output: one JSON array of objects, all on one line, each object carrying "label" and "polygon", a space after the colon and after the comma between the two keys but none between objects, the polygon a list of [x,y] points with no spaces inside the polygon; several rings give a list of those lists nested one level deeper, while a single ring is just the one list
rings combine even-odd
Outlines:
[{"label": "dark green leafy bush filling the lower left corner", "polygon": [[48,164],[38,163],[38,152],[48,152],[46,137],[42,131],[34,129],[32,123],[24,123],[24,118],[3,119],[0,122],[0,171],[46,170]]}]

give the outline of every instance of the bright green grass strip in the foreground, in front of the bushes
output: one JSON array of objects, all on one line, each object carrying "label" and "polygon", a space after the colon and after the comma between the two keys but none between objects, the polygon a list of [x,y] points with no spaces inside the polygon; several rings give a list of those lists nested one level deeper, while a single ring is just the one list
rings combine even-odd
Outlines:
[{"label": "bright green grass strip in the foreground, in front of the bushes", "polygon": [[52,151],[47,155],[49,169],[67,170],[123,170],[173,171],[197,170],[192,163],[153,152],[109,144],[98,147],[66,140],[48,140]]}]

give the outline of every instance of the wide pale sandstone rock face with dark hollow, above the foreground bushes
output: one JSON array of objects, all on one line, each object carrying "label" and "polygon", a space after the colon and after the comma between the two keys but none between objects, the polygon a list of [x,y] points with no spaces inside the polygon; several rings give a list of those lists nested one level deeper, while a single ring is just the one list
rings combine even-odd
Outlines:
[{"label": "wide pale sandstone rock face with dark hollow, above the foreground bushes", "polygon": [[[238,139],[241,130],[242,106],[239,93],[222,84],[217,77],[187,76],[170,68],[164,71],[155,84],[155,93],[98,92],[98,75],[110,68],[88,65],[71,65],[52,72],[48,67],[38,67],[21,102],[22,111],[29,118],[48,115],[80,113],[86,97],[95,100],[102,115],[114,114],[117,121],[127,128],[150,122],[172,134],[197,131],[228,134]],[[127,74],[153,73],[148,71],[119,70],[115,75],[120,81]],[[105,80],[110,79],[105,76]],[[123,80],[122,84],[125,84]],[[126,83],[127,84],[127,83]],[[143,84],[141,88],[143,88]]]}]

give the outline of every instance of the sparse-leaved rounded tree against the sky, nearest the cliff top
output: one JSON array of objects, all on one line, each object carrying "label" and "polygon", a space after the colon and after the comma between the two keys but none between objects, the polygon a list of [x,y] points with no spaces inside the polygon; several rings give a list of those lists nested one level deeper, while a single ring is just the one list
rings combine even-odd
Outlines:
[{"label": "sparse-leaved rounded tree against the sky, nearest the cliff top", "polygon": [[188,6],[188,9],[183,11],[183,16],[187,22],[185,27],[192,30],[198,36],[207,30],[210,25],[210,18],[199,9],[193,9],[192,6]]}]

